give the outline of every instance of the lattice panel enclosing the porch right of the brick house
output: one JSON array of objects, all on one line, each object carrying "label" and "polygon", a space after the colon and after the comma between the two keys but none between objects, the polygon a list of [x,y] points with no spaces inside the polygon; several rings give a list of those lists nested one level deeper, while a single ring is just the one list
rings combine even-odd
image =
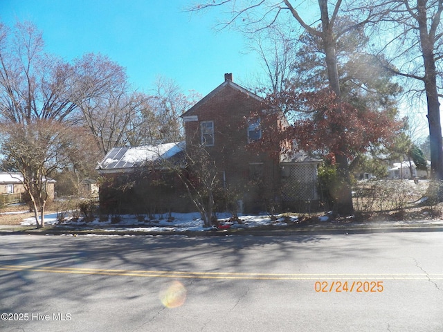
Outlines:
[{"label": "lattice panel enclosing the porch right of the brick house", "polygon": [[309,201],[317,198],[314,165],[289,165],[289,174],[282,178],[285,201]]}]

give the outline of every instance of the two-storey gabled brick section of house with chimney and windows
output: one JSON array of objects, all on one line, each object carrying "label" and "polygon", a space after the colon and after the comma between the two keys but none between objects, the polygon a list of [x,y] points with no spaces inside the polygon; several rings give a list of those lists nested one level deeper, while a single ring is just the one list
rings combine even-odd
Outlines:
[{"label": "two-storey gabled brick section of house with chimney and windows", "polygon": [[[248,145],[260,140],[265,128],[260,124],[264,100],[233,82],[232,74],[206,97],[191,107],[183,118],[186,149],[204,146],[215,161],[219,181],[226,190],[237,193],[240,210],[257,212],[278,200],[281,187],[278,154],[271,157]],[[282,114],[271,126],[286,124]],[[269,124],[268,124],[269,125]],[[274,151],[280,151],[276,142]]]}]

